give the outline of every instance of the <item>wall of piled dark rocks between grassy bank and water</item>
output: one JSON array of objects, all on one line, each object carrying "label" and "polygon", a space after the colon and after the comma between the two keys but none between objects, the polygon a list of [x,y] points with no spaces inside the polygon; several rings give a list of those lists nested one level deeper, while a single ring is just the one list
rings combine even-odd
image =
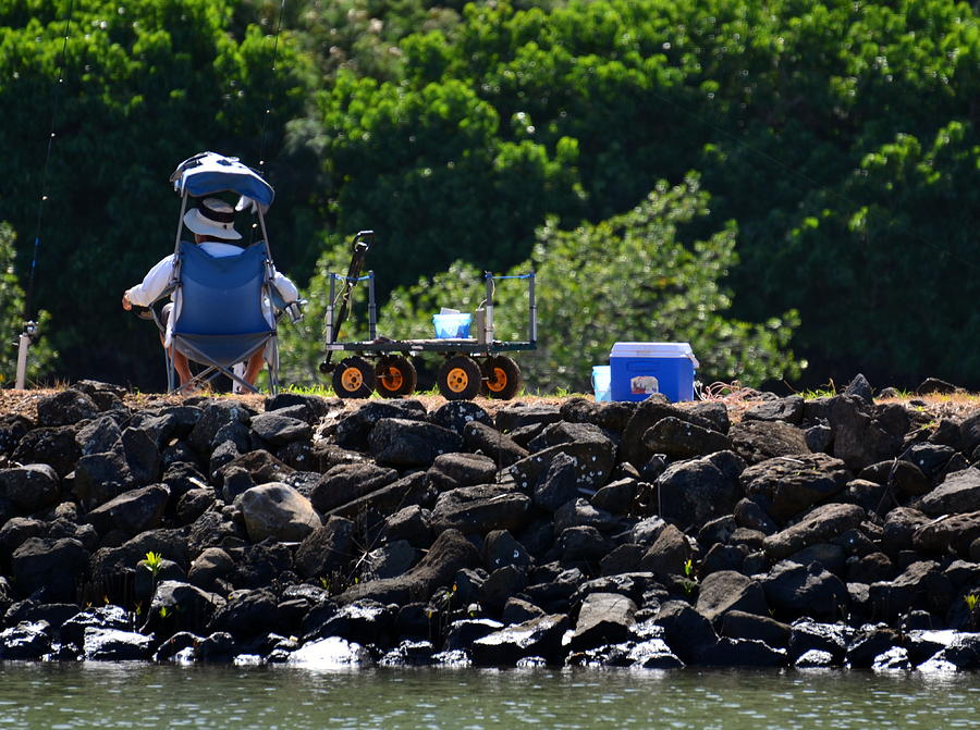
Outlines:
[{"label": "wall of piled dark rocks between grassy bank and water", "polygon": [[980,667],[980,408],[124,395],[0,416],[0,659]]}]

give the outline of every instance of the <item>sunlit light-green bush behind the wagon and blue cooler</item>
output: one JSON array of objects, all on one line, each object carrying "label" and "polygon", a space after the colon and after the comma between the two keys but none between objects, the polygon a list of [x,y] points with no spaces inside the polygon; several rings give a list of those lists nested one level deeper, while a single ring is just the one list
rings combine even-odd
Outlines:
[{"label": "sunlit light-green bush behind the wagon and blue cooler", "polygon": [[[659,183],[635,209],[595,225],[563,231],[551,219],[540,227],[532,259],[511,272],[537,268],[539,349],[519,357],[531,386],[587,389],[591,364],[607,362],[616,341],[690,342],[708,382],[798,376],[803,363],[788,351],[795,312],[764,324],[727,314],[721,281],[737,262],[734,225],[689,245],[678,237],[678,227],[707,213],[708,195],[690,176],[675,187]],[[380,313],[382,334],[431,337],[441,307],[473,311],[485,299],[480,272],[457,261],[394,292]],[[526,339],[524,282],[501,281],[494,301],[498,338]]]}]

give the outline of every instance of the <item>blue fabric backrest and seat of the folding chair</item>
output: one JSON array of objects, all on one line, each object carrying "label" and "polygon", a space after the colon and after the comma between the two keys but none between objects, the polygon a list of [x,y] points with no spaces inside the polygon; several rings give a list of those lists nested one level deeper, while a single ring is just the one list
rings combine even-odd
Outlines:
[{"label": "blue fabric backrest and seat of the folding chair", "polygon": [[173,341],[192,360],[228,368],[275,334],[262,313],[266,248],[255,244],[238,256],[212,257],[180,245],[181,311]]}]

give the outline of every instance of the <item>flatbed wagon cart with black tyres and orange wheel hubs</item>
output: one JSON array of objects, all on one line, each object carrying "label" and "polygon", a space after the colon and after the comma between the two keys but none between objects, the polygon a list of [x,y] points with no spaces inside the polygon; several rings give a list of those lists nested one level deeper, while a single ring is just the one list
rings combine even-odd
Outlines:
[{"label": "flatbed wagon cart with black tyres and orange wheel hubs", "polygon": [[[415,392],[418,375],[409,359],[421,352],[439,352],[445,360],[439,369],[437,385],[448,400],[466,400],[477,395],[507,400],[520,389],[520,369],[505,352],[532,350],[537,347],[537,306],[535,304],[535,274],[498,276],[483,273],[487,287],[486,302],[474,318],[476,337],[449,337],[431,339],[389,339],[378,336],[377,304],[375,301],[375,274],[362,275],[364,259],[373,243],[372,231],[362,231],[352,242],[353,255],[346,276],[331,273],[330,298],[326,314],[327,359],[320,363],[320,372],[332,372],[333,391],[341,398],[367,398],[375,391],[383,397],[411,395]],[[511,342],[494,338],[493,293],[497,282],[519,279],[527,282],[528,334],[527,341]],[[339,342],[350,309],[351,294],[362,281],[368,286],[369,339]],[[342,284],[338,293],[336,283]],[[334,352],[353,352],[339,363],[331,363]]]}]

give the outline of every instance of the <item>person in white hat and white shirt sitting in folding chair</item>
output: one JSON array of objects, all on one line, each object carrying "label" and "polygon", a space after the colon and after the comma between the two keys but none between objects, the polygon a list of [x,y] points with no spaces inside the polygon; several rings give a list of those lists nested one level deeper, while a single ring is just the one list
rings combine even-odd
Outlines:
[{"label": "person in white hat and white shirt sitting in folding chair", "polygon": [[[209,256],[216,258],[238,256],[244,249],[231,243],[242,238],[242,235],[235,231],[234,219],[234,209],[224,200],[205,198],[198,208],[187,211],[184,215],[184,225],[194,233],[195,243]],[[123,309],[128,311],[134,305],[137,307],[149,307],[159,299],[171,284],[174,263],[175,258],[171,253],[157,262],[144,276],[143,282],[126,289],[122,298]],[[296,289],[296,285],[275,271],[274,268],[272,269],[272,285],[286,305],[299,300],[299,292]],[[175,319],[171,314],[174,306],[179,306],[179,304],[171,302],[163,308],[167,333],[161,334],[160,338],[163,347],[168,349],[170,357],[173,359],[174,370],[180,375],[181,386],[183,387],[191,381],[192,373],[187,356],[171,345],[172,322]],[[274,326],[275,320],[271,304],[264,301],[262,311],[269,324]],[[248,359],[242,378],[249,385],[255,384],[255,379],[262,369],[264,355],[264,349],[259,349]]]}]

